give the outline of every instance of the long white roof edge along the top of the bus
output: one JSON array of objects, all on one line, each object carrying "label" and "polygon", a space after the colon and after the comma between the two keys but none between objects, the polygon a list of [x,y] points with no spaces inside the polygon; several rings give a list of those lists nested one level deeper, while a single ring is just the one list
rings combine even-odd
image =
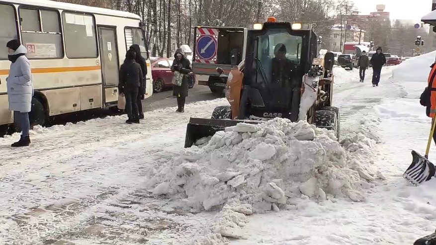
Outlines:
[{"label": "long white roof edge along the top of the bus", "polygon": [[66,2],[57,2],[50,0],[9,0],[8,2],[14,4],[26,4],[26,5],[34,5],[34,6],[45,6],[52,7],[64,10],[78,11],[78,12],[88,12],[88,13],[96,13],[96,14],[104,14],[118,17],[126,17],[133,19],[140,19],[139,15],[119,10],[112,10],[101,7],[89,7],[79,4],[66,3]]}]

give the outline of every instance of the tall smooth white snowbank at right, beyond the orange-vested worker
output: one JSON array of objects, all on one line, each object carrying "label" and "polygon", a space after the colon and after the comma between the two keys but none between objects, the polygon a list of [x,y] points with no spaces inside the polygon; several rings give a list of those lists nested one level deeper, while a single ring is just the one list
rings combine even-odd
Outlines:
[{"label": "tall smooth white snowbank at right, beyond the orange-vested worker", "polygon": [[405,60],[392,71],[394,82],[427,82],[436,51]]}]

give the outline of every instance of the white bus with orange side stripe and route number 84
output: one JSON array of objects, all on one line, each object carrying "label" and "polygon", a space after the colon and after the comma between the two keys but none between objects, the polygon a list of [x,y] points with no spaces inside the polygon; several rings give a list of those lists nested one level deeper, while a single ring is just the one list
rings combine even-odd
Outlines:
[{"label": "white bus with orange side stripe and route number 84", "polygon": [[150,60],[140,17],[104,8],[48,0],[0,0],[0,131],[13,122],[8,110],[6,43],[27,47],[34,97],[31,125],[64,113],[116,106],[118,72],[128,47],[147,60],[146,95],[153,93]]}]

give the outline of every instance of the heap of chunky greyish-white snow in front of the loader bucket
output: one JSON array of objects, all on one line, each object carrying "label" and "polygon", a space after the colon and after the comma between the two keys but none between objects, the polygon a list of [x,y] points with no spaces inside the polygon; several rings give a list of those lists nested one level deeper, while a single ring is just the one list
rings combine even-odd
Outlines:
[{"label": "heap of chunky greyish-white snow in front of the loader bucket", "polygon": [[172,163],[150,169],[148,187],[196,211],[236,200],[264,213],[285,209],[292,198],[349,196],[361,179],[346,159],[332,132],[275,118],[226,128],[207,143],[184,149]]}]

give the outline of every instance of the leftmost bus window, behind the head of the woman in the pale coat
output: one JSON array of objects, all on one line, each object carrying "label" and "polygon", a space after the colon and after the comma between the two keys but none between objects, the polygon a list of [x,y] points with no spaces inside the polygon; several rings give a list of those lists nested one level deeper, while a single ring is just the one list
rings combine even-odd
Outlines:
[{"label": "leftmost bus window, behind the head of the woman in the pale coat", "polygon": [[12,5],[0,3],[0,60],[7,60],[6,43],[17,39],[15,11]]}]

